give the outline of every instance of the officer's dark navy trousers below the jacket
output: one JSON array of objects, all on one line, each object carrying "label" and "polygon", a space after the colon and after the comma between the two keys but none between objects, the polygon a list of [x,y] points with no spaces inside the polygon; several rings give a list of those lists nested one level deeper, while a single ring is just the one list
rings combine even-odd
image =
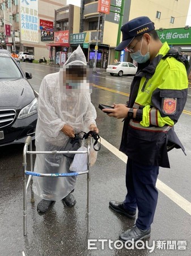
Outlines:
[{"label": "officer's dark navy trousers below the jacket", "polygon": [[126,166],[127,195],[124,201],[125,209],[135,212],[138,208],[138,218],[135,225],[140,229],[149,229],[155,214],[158,201],[156,180],[159,166],[143,166],[128,158]]}]

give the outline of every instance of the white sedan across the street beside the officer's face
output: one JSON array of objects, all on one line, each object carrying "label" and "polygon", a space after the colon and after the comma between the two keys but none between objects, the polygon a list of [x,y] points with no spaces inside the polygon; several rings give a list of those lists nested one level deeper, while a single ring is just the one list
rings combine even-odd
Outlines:
[{"label": "white sedan across the street beside the officer's face", "polygon": [[130,62],[115,62],[112,65],[108,65],[106,72],[110,73],[111,76],[135,75],[137,67]]}]

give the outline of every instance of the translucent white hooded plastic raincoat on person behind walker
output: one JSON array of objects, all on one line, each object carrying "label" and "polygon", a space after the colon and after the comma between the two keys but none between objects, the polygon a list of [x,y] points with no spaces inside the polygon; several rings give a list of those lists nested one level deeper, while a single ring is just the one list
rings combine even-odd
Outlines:
[{"label": "translucent white hooded plastic raincoat on person behind walker", "polygon": [[[36,151],[65,150],[70,139],[61,131],[65,124],[79,133],[89,131],[89,126],[95,123],[96,110],[91,103],[90,89],[70,93],[63,90],[66,81],[62,77],[67,65],[87,65],[80,46],[71,54],[60,72],[45,76],[41,82]],[[84,79],[82,85],[87,88],[88,80]],[[69,173],[72,160],[63,155],[37,154],[35,172]],[[45,200],[61,200],[74,189],[76,180],[75,176],[34,177],[33,191]]]}]

